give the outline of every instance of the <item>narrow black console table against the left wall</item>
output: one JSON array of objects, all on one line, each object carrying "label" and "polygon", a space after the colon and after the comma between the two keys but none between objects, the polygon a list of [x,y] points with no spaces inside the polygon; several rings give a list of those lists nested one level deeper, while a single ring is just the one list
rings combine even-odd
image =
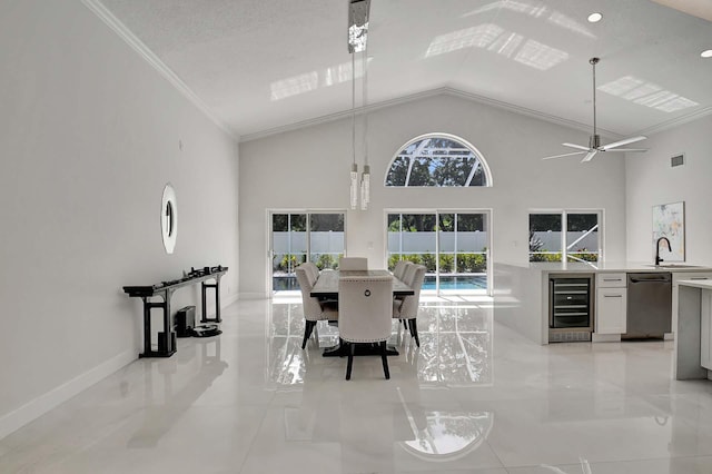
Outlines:
[{"label": "narrow black console table against the left wall", "polygon": [[[176,289],[200,283],[202,296],[202,315],[201,323],[220,323],[220,278],[227,273],[227,267],[202,267],[200,269],[191,268],[180,279],[161,282],[155,285],[145,286],[125,286],[123,293],[130,297],[138,297],[144,300],[144,353],[139,357],[170,357],[176,353],[176,333],[170,320],[170,297]],[[215,283],[208,283],[214,280]],[[207,292],[208,288],[215,289],[215,318],[207,317]],[[162,300],[151,300],[152,297],[159,297]],[[162,310],[164,332],[158,333],[158,349],[151,347],[151,309],[158,308]]]}]

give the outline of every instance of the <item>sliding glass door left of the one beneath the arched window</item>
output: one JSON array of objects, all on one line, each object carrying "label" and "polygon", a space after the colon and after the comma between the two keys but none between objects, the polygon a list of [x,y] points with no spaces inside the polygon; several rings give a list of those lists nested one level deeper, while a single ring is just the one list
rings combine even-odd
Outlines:
[{"label": "sliding glass door left of the one beneath the arched window", "polygon": [[270,265],[273,292],[298,290],[295,268],[314,261],[336,268],[344,255],[344,213],[271,213]]}]

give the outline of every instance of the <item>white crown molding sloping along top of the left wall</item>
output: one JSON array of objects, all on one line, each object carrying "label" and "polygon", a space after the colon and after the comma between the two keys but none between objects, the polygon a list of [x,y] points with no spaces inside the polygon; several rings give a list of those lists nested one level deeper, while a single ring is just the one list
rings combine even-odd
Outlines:
[{"label": "white crown molding sloping along top of the left wall", "polygon": [[144,42],[136,37],[118,18],[116,18],[99,0],[81,0],[92,13],[103,21],[115,33],[126,41],[138,55],[158,71],[171,86],[174,86],[186,99],[192,102],[208,119],[210,119],[222,131],[233,139],[239,141],[239,135],[227,124],[217,118],[210,108],[168,67],[158,56],[156,56]]}]

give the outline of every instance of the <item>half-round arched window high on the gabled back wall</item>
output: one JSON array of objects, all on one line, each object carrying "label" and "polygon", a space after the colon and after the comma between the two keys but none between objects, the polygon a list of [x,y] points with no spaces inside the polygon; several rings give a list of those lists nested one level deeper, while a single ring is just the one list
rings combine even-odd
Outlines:
[{"label": "half-round arched window high on the gabled back wall", "polygon": [[392,187],[492,186],[482,154],[459,137],[422,135],[400,148],[386,174]]}]

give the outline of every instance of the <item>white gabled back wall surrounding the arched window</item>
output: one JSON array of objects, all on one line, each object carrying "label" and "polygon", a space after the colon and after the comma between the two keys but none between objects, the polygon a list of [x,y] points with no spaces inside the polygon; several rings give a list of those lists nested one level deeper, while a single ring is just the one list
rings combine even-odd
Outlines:
[{"label": "white gabled back wall surrounding the arched window", "polygon": [[[615,155],[589,164],[542,161],[565,152],[564,141],[587,144],[585,132],[532,117],[437,96],[374,111],[369,116],[372,205],[348,211],[347,251],[385,265],[384,209],[493,209],[493,258],[527,261],[528,210],[605,209],[606,258],[625,256],[624,161]],[[492,188],[385,188],[394,155],[427,132],[457,135],[484,155]],[[348,207],[350,119],[317,125],[240,144],[240,293],[267,288],[266,209]]]}]

